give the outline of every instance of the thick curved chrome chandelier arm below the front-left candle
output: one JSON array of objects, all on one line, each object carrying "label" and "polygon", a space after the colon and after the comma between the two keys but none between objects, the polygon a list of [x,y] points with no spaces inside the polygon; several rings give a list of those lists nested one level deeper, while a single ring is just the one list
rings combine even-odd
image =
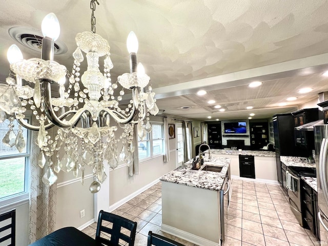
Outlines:
[{"label": "thick curved chrome chandelier arm below the front-left candle", "polygon": [[[45,108],[45,112],[46,115],[48,117],[48,119],[56,126],[58,127],[62,127],[62,128],[67,128],[67,127],[73,127],[77,124],[79,118],[81,117],[81,115],[83,115],[84,112],[86,112],[87,110],[82,108],[79,109],[77,111],[74,111],[74,116],[67,121],[63,121],[61,120],[61,117],[58,117],[53,108],[52,108],[52,103],[51,103],[51,84],[49,82],[49,80],[44,80],[42,84],[42,89],[45,92],[44,93],[44,97],[45,97],[45,101],[43,103],[44,108]],[[72,112],[72,110],[68,111],[67,113]],[[66,117],[63,117],[66,118]]]}]

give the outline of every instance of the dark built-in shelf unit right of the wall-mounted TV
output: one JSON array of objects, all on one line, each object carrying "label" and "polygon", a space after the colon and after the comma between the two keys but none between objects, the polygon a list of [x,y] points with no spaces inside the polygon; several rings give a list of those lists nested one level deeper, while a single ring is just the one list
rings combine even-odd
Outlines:
[{"label": "dark built-in shelf unit right of the wall-mounted TV", "polygon": [[251,149],[259,150],[269,143],[268,122],[250,122]]}]

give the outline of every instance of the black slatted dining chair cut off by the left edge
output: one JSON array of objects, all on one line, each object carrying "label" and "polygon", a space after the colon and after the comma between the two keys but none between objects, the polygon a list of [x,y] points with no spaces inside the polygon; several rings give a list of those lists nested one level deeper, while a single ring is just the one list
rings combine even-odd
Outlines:
[{"label": "black slatted dining chair cut off by the left edge", "polygon": [[[9,230],[10,229],[10,233]],[[0,244],[4,241],[6,243],[10,239],[8,246],[15,246],[15,229],[16,229],[16,210],[4,213],[0,215]],[[4,245],[4,244],[1,244]]]}]

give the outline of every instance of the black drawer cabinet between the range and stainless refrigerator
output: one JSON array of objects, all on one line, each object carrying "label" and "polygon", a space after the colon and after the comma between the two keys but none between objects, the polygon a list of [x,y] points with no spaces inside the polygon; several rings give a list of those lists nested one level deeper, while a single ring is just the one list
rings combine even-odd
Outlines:
[{"label": "black drawer cabinet between the range and stainless refrigerator", "polygon": [[301,201],[303,227],[311,230],[319,240],[318,194],[304,180],[301,180]]}]

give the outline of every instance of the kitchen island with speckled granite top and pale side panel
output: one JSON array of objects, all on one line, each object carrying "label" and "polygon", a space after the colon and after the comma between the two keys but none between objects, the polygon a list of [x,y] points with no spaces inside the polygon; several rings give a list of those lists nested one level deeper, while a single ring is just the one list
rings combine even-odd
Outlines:
[{"label": "kitchen island with speckled granite top and pale side panel", "polygon": [[[192,170],[191,161],[162,176],[161,231],[197,245],[221,245],[224,180],[230,158],[204,157],[204,165],[222,167],[220,172]],[[223,219],[224,223],[224,219]]]}]

